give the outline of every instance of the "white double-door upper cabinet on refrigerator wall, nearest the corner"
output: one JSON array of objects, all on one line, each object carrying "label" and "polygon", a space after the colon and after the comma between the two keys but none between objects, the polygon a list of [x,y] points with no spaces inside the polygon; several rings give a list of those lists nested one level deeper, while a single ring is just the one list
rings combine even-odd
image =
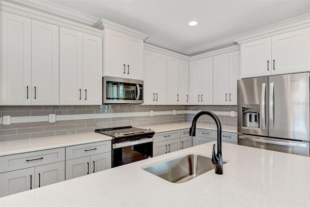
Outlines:
[{"label": "white double-door upper cabinet on refrigerator wall, nearest the corner", "polygon": [[189,63],[189,104],[208,105],[213,102],[213,57]]}]

